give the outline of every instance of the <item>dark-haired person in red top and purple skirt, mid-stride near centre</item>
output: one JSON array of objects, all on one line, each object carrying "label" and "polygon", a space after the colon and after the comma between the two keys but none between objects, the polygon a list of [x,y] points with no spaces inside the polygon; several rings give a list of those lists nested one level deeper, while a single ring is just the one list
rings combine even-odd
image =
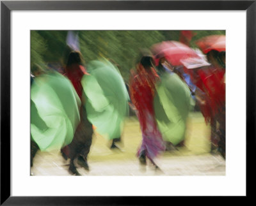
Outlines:
[{"label": "dark-haired person in red top and purple skirt, mid-stride near centre", "polygon": [[154,94],[159,76],[153,65],[150,54],[142,54],[136,65],[136,74],[131,77],[131,100],[138,110],[138,119],[142,132],[142,143],[137,156],[141,165],[147,164],[147,159],[158,168],[154,158],[164,151],[162,135],[157,128],[154,112]]}]

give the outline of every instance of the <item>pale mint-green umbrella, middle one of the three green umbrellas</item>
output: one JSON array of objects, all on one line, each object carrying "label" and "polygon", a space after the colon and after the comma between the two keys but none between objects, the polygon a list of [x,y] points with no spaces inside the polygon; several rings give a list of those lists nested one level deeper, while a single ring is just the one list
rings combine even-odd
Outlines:
[{"label": "pale mint-green umbrella, middle one of the three green umbrellas", "polygon": [[129,112],[124,80],[118,69],[106,60],[91,61],[87,70],[90,75],[84,75],[81,83],[88,120],[109,140],[118,138]]}]

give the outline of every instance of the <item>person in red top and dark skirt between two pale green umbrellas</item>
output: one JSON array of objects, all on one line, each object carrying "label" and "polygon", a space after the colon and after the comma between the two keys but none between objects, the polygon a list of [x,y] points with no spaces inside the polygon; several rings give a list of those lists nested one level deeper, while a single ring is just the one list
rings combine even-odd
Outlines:
[{"label": "person in red top and dark skirt between two pale green umbrellas", "polygon": [[87,156],[90,152],[93,135],[92,123],[88,121],[86,108],[84,107],[86,99],[84,99],[83,87],[81,85],[82,77],[88,75],[88,73],[83,66],[83,57],[80,52],[70,52],[65,71],[65,75],[72,82],[82,104],[80,107],[81,122],[77,126],[72,142],[61,149],[61,154],[65,159],[70,158],[69,172],[74,175],[80,175],[74,165],[74,160],[77,159],[78,165],[82,166],[85,170],[89,170]]}]

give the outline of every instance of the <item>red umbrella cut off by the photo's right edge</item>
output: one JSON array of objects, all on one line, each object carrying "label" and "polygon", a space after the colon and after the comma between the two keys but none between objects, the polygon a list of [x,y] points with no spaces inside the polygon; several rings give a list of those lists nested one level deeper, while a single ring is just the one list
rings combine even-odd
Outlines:
[{"label": "red umbrella cut off by the photo's right edge", "polygon": [[226,36],[225,35],[211,35],[205,36],[196,41],[196,45],[207,54],[211,50],[217,50],[218,52],[226,51]]}]

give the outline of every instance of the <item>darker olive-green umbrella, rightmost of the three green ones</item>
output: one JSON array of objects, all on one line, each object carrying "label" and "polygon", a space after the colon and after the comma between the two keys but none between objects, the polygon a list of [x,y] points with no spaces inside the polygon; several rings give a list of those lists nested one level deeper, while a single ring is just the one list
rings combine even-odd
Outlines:
[{"label": "darker olive-green umbrella, rightmost of the three green ones", "polygon": [[186,119],[194,105],[188,85],[175,73],[164,73],[157,85],[154,110],[157,125],[166,142],[177,145],[184,140]]}]

